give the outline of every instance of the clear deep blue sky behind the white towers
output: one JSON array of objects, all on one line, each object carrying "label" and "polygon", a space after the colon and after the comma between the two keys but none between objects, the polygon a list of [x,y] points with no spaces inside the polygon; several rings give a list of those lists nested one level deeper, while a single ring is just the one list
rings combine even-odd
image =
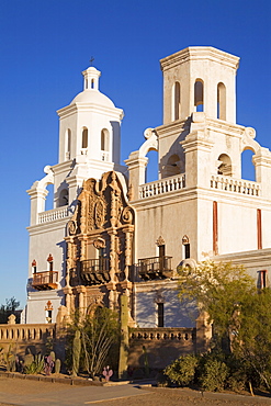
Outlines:
[{"label": "clear deep blue sky behind the white towers", "polygon": [[25,303],[30,201],[25,193],[57,163],[55,111],[82,90],[93,55],[100,90],[124,109],[122,159],[162,120],[159,59],[187,46],[241,57],[237,123],[271,147],[270,0],[1,0],[0,304]]}]

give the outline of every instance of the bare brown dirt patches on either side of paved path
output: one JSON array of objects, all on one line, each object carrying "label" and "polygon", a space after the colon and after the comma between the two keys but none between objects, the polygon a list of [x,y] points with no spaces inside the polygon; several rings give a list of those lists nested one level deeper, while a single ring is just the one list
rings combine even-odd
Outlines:
[{"label": "bare brown dirt patches on either side of paved path", "polygon": [[[48,393],[50,388],[54,387],[54,393],[57,391],[72,391],[75,386],[61,384],[61,383],[50,383],[50,382],[37,382],[21,379],[11,379],[0,376],[0,393],[1,394],[13,394],[14,388],[16,394],[27,396],[27,394],[38,394]],[[251,405],[271,405],[271,397],[252,397],[252,396],[239,396],[236,395],[225,395],[225,394],[213,394],[182,390],[182,388],[162,388],[162,387],[145,387],[144,391],[149,391],[148,394],[138,391],[138,395],[132,397],[123,397],[115,399],[99,401],[99,405],[108,406],[142,406],[147,404],[148,406],[190,406],[190,405],[201,405],[201,406],[214,406],[214,405],[225,405],[225,406],[251,406]],[[42,397],[42,396],[41,396]],[[91,403],[91,402],[90,402]],[[95,403],[98,404],[98,403]],[[1,406],[11,406],[11,404],[0,403]]]}]

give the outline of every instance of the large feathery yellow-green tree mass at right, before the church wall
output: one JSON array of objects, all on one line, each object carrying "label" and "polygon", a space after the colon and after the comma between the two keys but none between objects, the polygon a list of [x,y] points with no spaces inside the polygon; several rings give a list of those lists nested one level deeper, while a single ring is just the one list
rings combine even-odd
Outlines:
[{"label": "large feathery yellow-green tree mass at right, before the church wall", "polygon": [[180,298],[207,312],[215,349],[230,356],[232,365],[234,357],[247,382],[257,375],[271,390],[271,290],[258,290],[246,270],[232,263],[202,262],[179,274]]}]

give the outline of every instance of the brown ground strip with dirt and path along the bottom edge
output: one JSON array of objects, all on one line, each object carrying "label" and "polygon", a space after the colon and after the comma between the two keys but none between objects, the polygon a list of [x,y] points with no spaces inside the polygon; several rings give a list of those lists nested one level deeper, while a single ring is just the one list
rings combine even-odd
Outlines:
[{"label": "brown ground strip with dirt and path along the bottom edge", "polygon": [[71,386],[0,376],[0,406],[260,406],[270,397],[204,393],[188,388],[138,388],[116,386]]}]

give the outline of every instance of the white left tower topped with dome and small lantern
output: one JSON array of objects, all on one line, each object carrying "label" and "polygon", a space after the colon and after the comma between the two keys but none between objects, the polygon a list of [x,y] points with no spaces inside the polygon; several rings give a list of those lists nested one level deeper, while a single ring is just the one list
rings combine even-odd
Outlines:
[{"label": "white left tower topped with dome and small lantern", "polygon": [[88,161],[94,178],[120,163],[123,110],[99,90],[101,72],[90,67],[82,72],[83,91],[57,111],[59,115],[59,163]]}]

